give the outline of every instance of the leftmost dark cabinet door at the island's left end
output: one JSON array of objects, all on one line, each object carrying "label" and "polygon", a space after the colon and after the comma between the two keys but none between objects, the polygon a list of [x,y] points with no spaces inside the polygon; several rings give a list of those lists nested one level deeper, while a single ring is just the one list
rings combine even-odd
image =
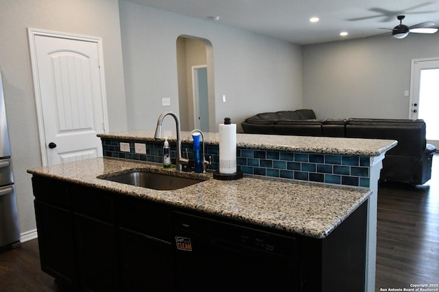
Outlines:
[{"label": "leftmost dark cabinet door at the island's left end", "polygon": [[34,201],[41,269],[70,286],[76,282],[73,215],[70,211]]}]

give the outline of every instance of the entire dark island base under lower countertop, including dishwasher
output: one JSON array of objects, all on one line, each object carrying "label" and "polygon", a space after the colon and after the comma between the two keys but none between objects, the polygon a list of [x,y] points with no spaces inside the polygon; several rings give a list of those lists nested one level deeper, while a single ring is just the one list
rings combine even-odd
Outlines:
[{"label": "entire dark island base under lower countertop, including dishwasher", "polygon": [[41,268],[75,291],[363,291],[364,202],[324,239],[32,178]]}]

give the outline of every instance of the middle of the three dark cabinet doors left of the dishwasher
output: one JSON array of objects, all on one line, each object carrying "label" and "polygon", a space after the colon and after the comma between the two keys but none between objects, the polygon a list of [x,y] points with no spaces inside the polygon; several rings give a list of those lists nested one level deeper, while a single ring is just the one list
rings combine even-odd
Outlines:
[{"label": "middle of the three dark cabinet doors left of the dishwasher", "polygon": [[116,231],[112,224],[75,214],[80,286],[85,291],[118,291]]}]

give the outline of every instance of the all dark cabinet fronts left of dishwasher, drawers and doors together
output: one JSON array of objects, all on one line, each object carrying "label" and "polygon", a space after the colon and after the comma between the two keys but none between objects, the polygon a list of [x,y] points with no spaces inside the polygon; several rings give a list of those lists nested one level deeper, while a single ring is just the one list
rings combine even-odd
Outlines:
[{"label": "all dark cabinet fronts left of dishwasher, drawers and doors together", "polygon": [[34,176],[43,271],[77,291],[174,291],[171,211]]}]

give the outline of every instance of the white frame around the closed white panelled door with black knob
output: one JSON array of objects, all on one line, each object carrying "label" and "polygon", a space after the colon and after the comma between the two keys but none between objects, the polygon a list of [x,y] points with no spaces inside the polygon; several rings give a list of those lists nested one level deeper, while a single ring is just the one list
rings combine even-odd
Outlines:
[{"label": "white frame around the closed white panelled door with black knob", "polygon": [[49,31],[45,29],[35,29],[28,27],[27,28],[27,36],[29,38],[29,52],[31,57],[31,66],[32,66],[32,76],[34,79],[34,94],[35,94],[35,105],[36,105],[36,116],[38,122],[38,135],[40,137],[40,153],[41,153],[41,162],[43,166],[49,165],[47,159],[47,141],[45,136],[45,128],[43,122],[43,105],[40,91],[40,76],[38,74],[38,68],[36,66],[36,44],[35,37],[36,36],[46,36],[50,38],[64,38],[69,40],[80,40],[85,42],[94,42],[97,44],[97,55],[99,59],[99,75],[100,75],[100,85],[101,85],[101,93],[102,93],[102,111],[104,114],[104,133],[108,132],[108,108],[106,101],[106,87],[105,87],[105,76],[104,76],[104,53],[102,49],[102,38],[95,36],[84,36],[80,34],[69,34],[60,31]]}]

